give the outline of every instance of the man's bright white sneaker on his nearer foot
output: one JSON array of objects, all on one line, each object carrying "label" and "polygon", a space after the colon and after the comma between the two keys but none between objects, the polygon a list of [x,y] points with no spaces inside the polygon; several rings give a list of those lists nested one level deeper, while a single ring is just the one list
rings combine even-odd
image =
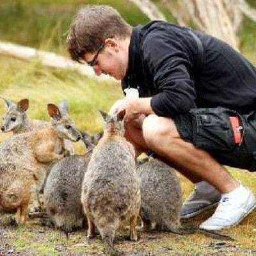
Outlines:
[{"label": "man's bright white sneaker on his nearer foot", "polygon": [[214,214],[204,221],[199,228],[219,230],[237,225],[256,207],[252,191],[240,185],[239,188],[221,196],[220,204]]}]

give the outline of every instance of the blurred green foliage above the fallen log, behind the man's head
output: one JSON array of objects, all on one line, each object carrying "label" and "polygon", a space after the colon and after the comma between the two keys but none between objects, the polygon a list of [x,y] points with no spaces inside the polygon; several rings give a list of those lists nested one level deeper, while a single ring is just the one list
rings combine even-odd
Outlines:
[{"label": "blurred green foliage above the fallen log, behind the man's head", "polygon": [[66,54],[65,33],[75,13],[85,4],[99,3],[115,6],[131,25],[148,21],[125,0],[12,0],[0,4],[0,38]]}]

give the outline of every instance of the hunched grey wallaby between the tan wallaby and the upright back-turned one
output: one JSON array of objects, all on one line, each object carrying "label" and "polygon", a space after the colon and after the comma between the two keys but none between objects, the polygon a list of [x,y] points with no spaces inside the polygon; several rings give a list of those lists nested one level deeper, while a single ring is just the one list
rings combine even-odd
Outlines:
[{"label": "hunched grey wallaby between the tan wallaby and the upright back-turned one", "polygon": [[54,225],[66,234],[83,225],[85,220],[81,204],[81,187],[87,164],[95,147],[93,143],[102,134],[81,132],[87,153],[68,156],[52,166],[44,189],[47,214]]}]

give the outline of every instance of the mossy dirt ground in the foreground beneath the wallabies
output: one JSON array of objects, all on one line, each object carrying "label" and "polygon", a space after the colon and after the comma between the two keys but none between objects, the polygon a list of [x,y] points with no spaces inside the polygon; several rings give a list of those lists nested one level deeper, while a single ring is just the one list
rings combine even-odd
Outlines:
[{"label": "mossy dirt ground in the foreground beneath the wallabies", "polygon": [[[182,225],[195,225],[212,212],[183,221]],[[212,239],[204,234],[179,236],[167,232],[140,233],[137,242],[128,239],[129,232],[120,228],[116,232],[115,246],[124,255],[256,255],[256,212],[252,212],[241,225],[221,231],[235,241]],[[7,220],[7,221],[6,221]],[[10,216],[0,218],[0,256],[2,255],[105,255],[100,236],[88,240],[86,230],[68,234],[47,227],[42,220],[29,220],[26,225],[13,225]],[[254,236],[253,236],[254,235]]]}]

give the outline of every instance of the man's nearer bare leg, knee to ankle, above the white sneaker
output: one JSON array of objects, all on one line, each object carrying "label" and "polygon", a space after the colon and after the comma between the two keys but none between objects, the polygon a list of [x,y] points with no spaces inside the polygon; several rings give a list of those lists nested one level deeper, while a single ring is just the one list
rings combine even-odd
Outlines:
[{"label": "man's nearer bare leg, knee to ankle, above the white sneaker", "polygon": [[143,122],[143,138],[149,148],[179,172],[186,173],[193,182],[206,180],[221,193],[239,187],[239,182],[207,152],[182,140],[170,118],[147,116]]}]

